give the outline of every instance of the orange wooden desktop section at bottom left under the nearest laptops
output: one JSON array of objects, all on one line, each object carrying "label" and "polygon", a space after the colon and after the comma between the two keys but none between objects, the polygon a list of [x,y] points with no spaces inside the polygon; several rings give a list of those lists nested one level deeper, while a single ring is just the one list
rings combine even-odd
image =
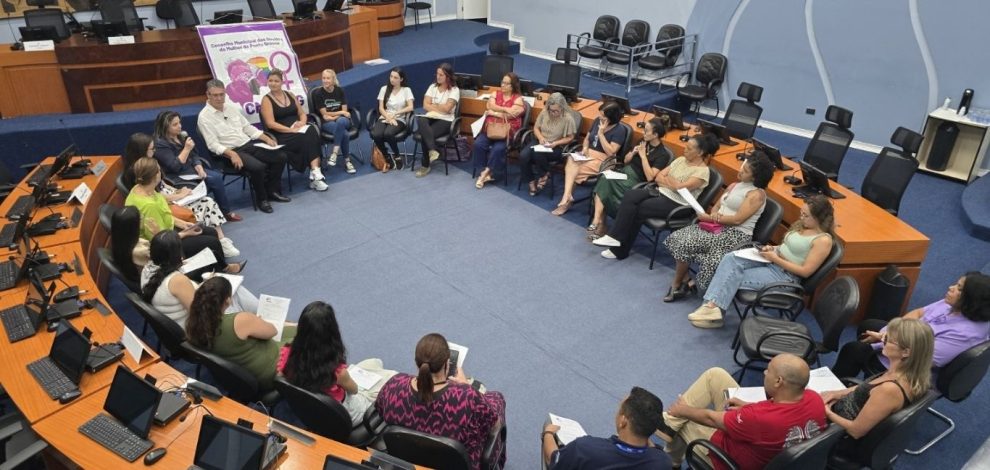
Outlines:
[{"label": "orange wooden desktop section at bottom left under the nearest laptops", "polygon": [[[114,369],[114,367],[106,369],[110,372],[111,377]],[[142,373],[150,373],[159,380],[160,384],[165,380],[173,383],[185,381],[185,376],[182,373],[161,362],[146,368]],[[166,385],[161,386],[165,387]],[[106,400],[108,392],[109,387],[78,400],[77,405],[67,407],[36,424],[34,431],[83,468],[147,468],[144,466],[143,459],[139,458],[132,463],[125,462],[113,452],[106,450],[103,446],[76,431],[81,424],[103,410],[103,402]],[[235,423],[238,418],[243,418],[254,423],[256,431],[266,432],[267,430],[268,417],[266,415],[231,399],[204,400],[203,404],[218,418]],[[199,438],[199,427],[203,422],[203,414],[205,414],[204,411],[193,410],[189,412],[184,422],[179,422],[176,419],[165,427],[152,427],[149,439],[155,443],[155,447],[164,447],[171,442],[168,453],[156,464],[158,467],[186,468],[192,464],[193,454],[196,451],[196,441]],[[303,432],[305,433],[305,431]],[[316,443],[312,446],[305,446],[291,438],[288,440],[288,448],[285,454],[279,458],[277,468],[323,468],[326,455],[331,453],[353,462],[360,462],[368,456],[367,451],[314,434],[309,435],[316,439]]]}]

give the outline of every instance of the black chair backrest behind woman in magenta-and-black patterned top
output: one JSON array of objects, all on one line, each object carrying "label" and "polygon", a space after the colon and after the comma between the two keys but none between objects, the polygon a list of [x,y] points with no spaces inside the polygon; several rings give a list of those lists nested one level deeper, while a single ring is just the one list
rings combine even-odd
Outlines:
[{"label": "black chair backrest behind woman in magenta-and-black patterned top", "polygon": [[449,437],[392,425],[385,428],[382,439],[390,455],[416,465],[450,470],[471,468],[471,459],[464,444]]}]

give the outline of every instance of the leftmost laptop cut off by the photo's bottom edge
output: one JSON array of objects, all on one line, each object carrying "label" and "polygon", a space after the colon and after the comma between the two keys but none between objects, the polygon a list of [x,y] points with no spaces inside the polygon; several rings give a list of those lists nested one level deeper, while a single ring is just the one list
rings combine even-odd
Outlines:
[{"label": "leftmost laptop cut off by the photo's bottom edge", "polygon": [[285,443],[273,434],[205,415],[190,470],[266,470],[285,452]]}]

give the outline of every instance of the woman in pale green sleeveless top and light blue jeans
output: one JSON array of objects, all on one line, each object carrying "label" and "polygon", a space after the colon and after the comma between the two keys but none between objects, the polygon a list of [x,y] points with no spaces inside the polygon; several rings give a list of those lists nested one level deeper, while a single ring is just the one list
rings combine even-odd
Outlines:
[{"label": "woman in pale green sleeveless top and light blue jeans", "polygon": [[705,292],[705,302],[688,315],[698,328],[721,328],[722,311],[739,289],[760,290],[772,282],[801,282],[812,275],[832,251],[835,212],[822,195],[804,200],[798,220],[791,224],[780,246],[767,245],[761,254],[769,263],[732,253],[722,257]]}]

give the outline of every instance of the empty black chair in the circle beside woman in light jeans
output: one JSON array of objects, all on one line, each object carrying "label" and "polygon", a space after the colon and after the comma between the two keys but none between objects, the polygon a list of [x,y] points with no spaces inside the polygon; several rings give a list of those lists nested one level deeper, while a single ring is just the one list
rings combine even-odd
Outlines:
[{"label": "empty black chair in the circle beside woman in light jeans", "polygon": [[[794,354],[812,364],[819,362],[821,354],[837,351],[842,330],[857,308],[859,284],[849,276],[841,276],[825,286],[811,308],[811,316],[822,331],[821,341],[816,341],[802,323],[758,315],[746,318],[739,323],[736,332],[739,341],[732,353],[732,360],[742,366],[739,382],[753,363],[768,363],[783,353]],[[739,351],[746,356],[745,362],[740,362]]]}]

